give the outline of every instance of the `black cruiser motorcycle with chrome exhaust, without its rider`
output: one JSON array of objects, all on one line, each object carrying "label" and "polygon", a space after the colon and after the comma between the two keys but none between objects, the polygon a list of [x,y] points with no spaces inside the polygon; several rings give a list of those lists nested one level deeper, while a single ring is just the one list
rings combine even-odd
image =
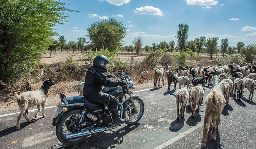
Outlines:
[{"label": "black cruiser motorcycle with chrome exhaust, without its rider", "polygon": [[[120,118],[126,118],[126,124],[136,124],[144,113],[143,100],[132,93],[131,89],[135,89],[135,86],[130,76],[126,75],[123,70],[121,80],[114,74],[110,74],[110,76],[118,81],[125,81],[126,84],[110,88],[103,87],[101,91],[119,99],[119,116]],[[52,125],[56,127],[57,138],[65,145],[79,144],[88,135],[121,126],[121,124],[113,126],[113,116],[107,105],[91,101],[82,96],[66,97],[63,93],[60,93],[60,100],[61,102],[56,105],[58,109],[52,118]]]}]

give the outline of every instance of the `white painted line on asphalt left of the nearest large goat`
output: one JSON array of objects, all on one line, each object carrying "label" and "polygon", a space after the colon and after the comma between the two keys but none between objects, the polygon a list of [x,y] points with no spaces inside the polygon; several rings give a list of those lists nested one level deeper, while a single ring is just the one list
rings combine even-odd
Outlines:
[{"label": "white painted line on asphalt left of the nearest large goat", "polygon": [[203,126],[204,122],[200,122],[199,124],[197,124],[196,126],[193,126],[192,128],[182,132],[181,134],[179,134],[178,136],[175,136],[173,138],[171,138],[170,140],[156,146],[154,149],[162,149],[168,145],[171,145],[172,143],[174,143],[175,141],[181,139],[182,137],[187,136],[188,134],[190,134],[192,131],[198,129],[199,127]]}]

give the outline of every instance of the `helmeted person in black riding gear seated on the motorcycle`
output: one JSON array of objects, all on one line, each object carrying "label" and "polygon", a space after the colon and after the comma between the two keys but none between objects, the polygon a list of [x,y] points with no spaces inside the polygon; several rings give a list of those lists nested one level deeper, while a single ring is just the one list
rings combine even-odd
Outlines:
[{"label": "helmeted person in black riding gear seated on the motorcycle", "polygon": [[124,85],[126,82],[111,80],[104,73],[108,71],[109,60],[105,55],[97,55],[93,60],[93,65],[87,70],[84,80],[84,97],[92,101],[103,103],[109,106],[113,115],[113,126],[126,122],[118,114],[118,98],[101,91],[102,85],[106,87],[116,87]]}]

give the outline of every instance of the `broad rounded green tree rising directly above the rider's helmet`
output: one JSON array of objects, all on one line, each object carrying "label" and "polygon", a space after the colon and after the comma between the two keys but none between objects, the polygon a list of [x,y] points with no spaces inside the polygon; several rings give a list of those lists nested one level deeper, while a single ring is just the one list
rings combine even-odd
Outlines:
[{"label": "broad rounded green tree rising directly above the rider's helmet", "polygon": [[88,38],[93,50],[100,50],[103,46],[114,51],[124,45],[126,27],[115,18],[94,22],[87,28]]}]

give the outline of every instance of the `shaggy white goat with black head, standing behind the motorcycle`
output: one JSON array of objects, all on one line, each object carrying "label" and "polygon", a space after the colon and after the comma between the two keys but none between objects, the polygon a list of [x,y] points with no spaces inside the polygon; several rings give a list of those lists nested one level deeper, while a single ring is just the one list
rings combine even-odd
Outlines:
[{"label": "shaggy white goat with black head, standing behind the motorcycle", "polygon": [[35,118],[37,118],[38,113],[40,112],[40,109],[41,109],[40,106],[42,105],[43,117],[45,117],[44,107],[45,107],[45,103],[47,102],[47,97],[48,97],[47,93],[50,87],[54,84],[55,83],[51,78],[47,78],[44,81],[41,88],[36,91],[26,91],[20,95],[18,95],[18,93],[15,92],[15,98],[18,101],[18,104],[20,107],[20,115],[18,116],[16,129],[20,129],[20,118],[22,115],[25,117],[25,119],[28,122],[31,122],[31,120],[29,120],[27,116],[29,107],[37,106],[38,111],[35,115]]}]

